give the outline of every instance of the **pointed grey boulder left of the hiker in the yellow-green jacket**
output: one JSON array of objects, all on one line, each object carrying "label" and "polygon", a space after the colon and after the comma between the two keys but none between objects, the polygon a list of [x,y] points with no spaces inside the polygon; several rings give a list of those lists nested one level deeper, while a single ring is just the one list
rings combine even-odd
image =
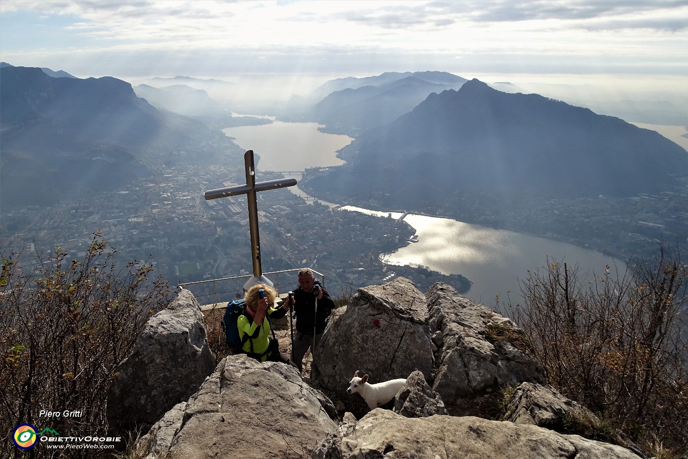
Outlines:
[{"label": "pointed grey boulder left of the hiker in the yellow-green jacket", "polygon": [[133,353],[117,368],[107,396],[109,425],[148,431],[169,409],[187,401],[215,365],[198,301],[182,290],[151,317]]}]

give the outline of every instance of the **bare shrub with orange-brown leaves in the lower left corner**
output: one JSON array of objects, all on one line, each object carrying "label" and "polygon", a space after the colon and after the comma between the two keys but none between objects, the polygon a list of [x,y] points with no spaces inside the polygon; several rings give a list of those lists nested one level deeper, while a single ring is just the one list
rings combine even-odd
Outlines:
[{"label": "bare shrub with orange-brown leaves in the lower left corner", "polygon": [[[149,280],[153,266],[117,268],[99,233],[83,260],[56,248],[34,273],[17,255],[2,257],[0,277],[0,456],[51,457],[39,442],[23,453],[12,431],[22,423],[61,436],[107,433],[105,403],[116,367],[131,354],[144,325],[169,304],[169,287]],[[40,258],[40,257],[39,257]],[[48,418],[41,410],[78,416]],[[88,455],[72,449],[70,457]]]}]

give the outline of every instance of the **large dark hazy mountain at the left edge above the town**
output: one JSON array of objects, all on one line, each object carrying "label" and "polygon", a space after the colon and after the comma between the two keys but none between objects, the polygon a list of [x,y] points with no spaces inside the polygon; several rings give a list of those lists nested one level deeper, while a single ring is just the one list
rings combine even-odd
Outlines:
[{"label": "large dark hazy mountain at the left edge above the town", "polygon": [[186,142],[200,122],[162,114],[116,78],[53,78],[0,69],[3,207],[120,189],[149,171],[142,149]]}]

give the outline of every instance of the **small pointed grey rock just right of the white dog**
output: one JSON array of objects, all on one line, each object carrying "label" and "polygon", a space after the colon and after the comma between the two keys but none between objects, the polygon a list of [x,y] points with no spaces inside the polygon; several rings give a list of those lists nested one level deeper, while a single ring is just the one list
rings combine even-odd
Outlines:
[{"label": "small pointed grey rock just right of the white dog", "polygon": [[427,418],[434,414],[447,414],[444,402],[428,385],[421,372],[413,372],[406,384],[394,397],[394,412],[407,418]]}]

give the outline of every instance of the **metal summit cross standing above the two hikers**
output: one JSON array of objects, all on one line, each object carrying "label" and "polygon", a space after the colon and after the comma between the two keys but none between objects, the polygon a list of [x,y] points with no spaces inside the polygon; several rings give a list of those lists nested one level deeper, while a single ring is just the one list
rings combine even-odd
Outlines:
[{"label": "metal summit cross standing above the two hikers", "polygon": [[260,237],[258,233],[258,205],[256,200],[257,191],[273,190],[284,188],[286,186],[294,186],[297,180],[294,178],[281,178],[277,180],[268,180],[267,182],[256,183],[255,166],[253,163],[253,150],[248,150],[244,153],[244,164],[246,165],[246,184],[228,186],[227,188],[219,188],[215,190],[208,190],[204,194],[206,200],[227,198],[228,196],[246,195],[248,198],[248,228],[251,235],[251,255],[253,261],[253,277],[246,281],[244,290],[248,290],[255,284],[266,284],[272,286],[272,281],[263,275],[263,270],[260,264]]}]

